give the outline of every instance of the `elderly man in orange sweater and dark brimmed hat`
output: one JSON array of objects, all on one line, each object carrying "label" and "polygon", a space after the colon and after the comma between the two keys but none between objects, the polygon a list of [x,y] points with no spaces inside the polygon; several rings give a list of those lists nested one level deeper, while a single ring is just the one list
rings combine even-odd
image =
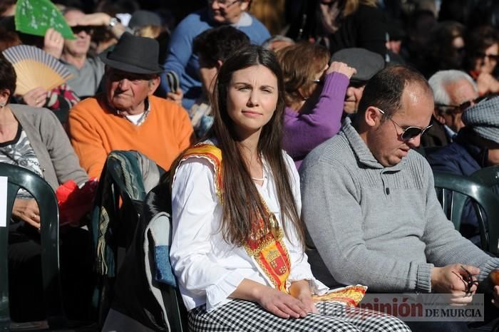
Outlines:
[{"label": "elderly man in orange sweater and dark brimmed hat", "polygon": [[187,112],[153,95],[163,72],[158,53],[158,41],[123,33],[113,51],[101,54],[106,91],[70,111],[71,144],[92,177],[100,177],[112,150],[137,150],[169,170],[189,147],[193,130]]}]

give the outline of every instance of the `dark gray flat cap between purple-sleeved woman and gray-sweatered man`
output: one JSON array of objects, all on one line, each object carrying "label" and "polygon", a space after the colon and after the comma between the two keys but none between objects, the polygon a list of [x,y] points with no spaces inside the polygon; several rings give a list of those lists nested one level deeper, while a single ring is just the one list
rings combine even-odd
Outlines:
[{"label": "dark gray flat cap between purple-sleeved woman and gray-sweatered man", "polygon": [[351,77],[354,81],[369,81],[369,78],[385,68],[383,57],[365,48],[344,48],[331,56],[332,61],[340,61],[355,68],[357,73]]}]

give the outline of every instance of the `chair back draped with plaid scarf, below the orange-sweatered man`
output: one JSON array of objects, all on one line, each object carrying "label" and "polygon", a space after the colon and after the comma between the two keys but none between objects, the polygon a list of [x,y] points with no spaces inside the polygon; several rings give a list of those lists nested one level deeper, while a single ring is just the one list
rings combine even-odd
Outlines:
[{"label": "chair back draped with plaid scarf, below the orange-sweatered man", "polygon": [[[146,190],[157,185],[160,167],[137,151],[114,150],[107,157],[91,224],[98,259],[98,325],[103,326],[114,301],[115,274],[133,245]],[[103,210],[106,218],[102,218]],[[101,264],[104,262],[105,264]],[[106,269],[102,269],[105,265]],[[101,266],[101,267],[100,267]]]}]

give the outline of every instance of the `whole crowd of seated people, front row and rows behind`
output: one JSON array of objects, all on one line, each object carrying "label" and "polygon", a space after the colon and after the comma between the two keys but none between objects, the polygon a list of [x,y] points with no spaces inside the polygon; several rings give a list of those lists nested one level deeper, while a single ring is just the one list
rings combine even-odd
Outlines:
[{"label": "whole crowd of seated people, front row and rows behind", "polygon": [[[272,15],[264,0],[53,2],[75,39],[21,33],[16,1],[0,4],[0,51],[35,46],[73,75],[19,95],[0,56],[0,162],[54,192],[98,181],[113,150],[170,171],[170,260],[192,331],[473,328],[314,302],[357,284],[458,306],[485,294],[475,327],[498,323],[499,286],[480,285],[499,259],[478,247],[470,207],[453,228],[432,172],[499,165],[494,1],[286,0]],[[77,319],[92,318],[96,278],[86,217],[61,228]],[[40,227],[19,192],[14,321],[44,316]]]}]

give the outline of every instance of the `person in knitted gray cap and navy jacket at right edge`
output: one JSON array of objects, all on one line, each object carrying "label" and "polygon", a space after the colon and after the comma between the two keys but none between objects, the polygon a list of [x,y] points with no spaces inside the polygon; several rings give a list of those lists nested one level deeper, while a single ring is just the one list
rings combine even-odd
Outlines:
[{"label": "person in knitted gray cap and navy jacket at right edge", "polygon": [[[469,176],[483,167],[499,165],[499,97],[471,106],[462,118],[465,127],[454,142],[428,154],[431,168]],[[468,204],[461,220],[461,234],[479,244],[479,231],[476,214]]]}]

